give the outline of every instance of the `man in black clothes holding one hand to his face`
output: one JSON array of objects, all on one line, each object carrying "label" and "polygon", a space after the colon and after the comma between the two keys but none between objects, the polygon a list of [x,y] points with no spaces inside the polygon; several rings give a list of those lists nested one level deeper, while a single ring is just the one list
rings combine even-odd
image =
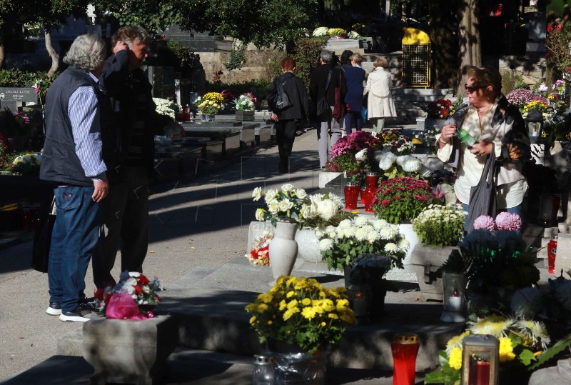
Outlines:
[{"label": "man in black clothes holding one hand to his face", "polygon": [[[119,132],[123,181],[114,184],[101,207],[105,225],[94,251],[94,282],[98,288],[116,281],[111,276],[118,249],[121,271],[143,271],[148,248],[148,185],[153,174],[154,136],[181,136],[183,129],[158,114],[141,66],[148,35],[138,26],[121,27],[111,38],[113,55],[103,66],[101,87],[111,97]],[[175,134],[176,133],[176,134]]]}]

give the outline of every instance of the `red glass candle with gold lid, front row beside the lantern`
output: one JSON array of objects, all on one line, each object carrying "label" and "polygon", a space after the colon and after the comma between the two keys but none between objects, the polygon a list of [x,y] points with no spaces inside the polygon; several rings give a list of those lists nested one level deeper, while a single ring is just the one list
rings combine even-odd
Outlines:
[{"label": "red glass candle with gold lid, front row beside the lantern", "polygon": [[390,349],[393,351],[393,385],[415,383],[416,355],[418,354],[416,334],[397,334]]}]

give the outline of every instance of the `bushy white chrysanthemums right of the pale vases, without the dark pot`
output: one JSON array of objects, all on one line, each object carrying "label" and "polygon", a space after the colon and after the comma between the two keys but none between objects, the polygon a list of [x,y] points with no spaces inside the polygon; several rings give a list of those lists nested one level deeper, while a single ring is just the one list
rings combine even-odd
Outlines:
[{"label": "bushy white chrysanthemums right of the pale vases, without the dark pot", "polygon": [[345,219],[338,226],[315,229],[315,235],[320,239],[321,256],[327,261],[329,269],[343,269],[360,254],[390,256],[390,266],[402,268],[410,247],[398,226],[382,219]]}]

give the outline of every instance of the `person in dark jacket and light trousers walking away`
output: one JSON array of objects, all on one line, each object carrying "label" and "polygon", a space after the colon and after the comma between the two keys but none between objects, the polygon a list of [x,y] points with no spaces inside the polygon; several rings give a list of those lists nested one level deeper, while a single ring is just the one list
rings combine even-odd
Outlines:
[{"label": "person in dark jacket and light trousers walking away", "polygon": [[[330,111],[317,116],[320,126],[317,130],[317,143],[319,151],[319,166],[325,169],[328,161],[328,152],[330,146],[337,143],[341,137],[340,121],[341,119],[333,118],[333,106],[335,104],[335,88],[340,87],[341,102],[347,94],[347,83],[343,76],[343,69],[340,66],[333,66],[333,52],[324,49],[320,54],[321,65],[314,69],[309,79],[309,95],[313,103],[313,111],[317,111],[317,103],[320,99],[327,100]],[[329,84],[328,84],[329,79]],[[329,146],[329,136],[331,143]]]}]

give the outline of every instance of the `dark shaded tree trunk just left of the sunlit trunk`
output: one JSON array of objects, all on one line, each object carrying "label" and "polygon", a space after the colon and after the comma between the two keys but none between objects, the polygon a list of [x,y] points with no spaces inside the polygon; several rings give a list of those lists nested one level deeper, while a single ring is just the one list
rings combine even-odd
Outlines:
[{"label": "dark shaded tree trunk just left of the sunlit trunk", "polygon": [[458,84],[458,39],[454,30],[457,3],[456,0],[429,3],[435,89],[454,88]]}]

